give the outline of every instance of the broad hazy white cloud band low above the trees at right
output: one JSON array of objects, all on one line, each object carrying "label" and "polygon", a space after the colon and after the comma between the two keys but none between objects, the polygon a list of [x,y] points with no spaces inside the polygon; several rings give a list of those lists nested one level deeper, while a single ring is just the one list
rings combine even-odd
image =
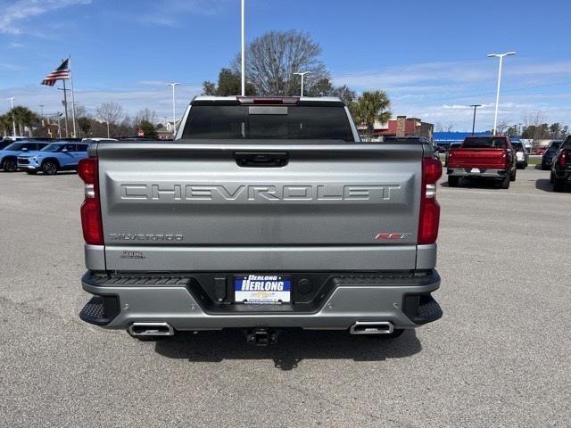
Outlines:
[{"label": "broad hazy white cloud band low above the trees at right", "polygon": [[[571,62],[514,57],[504,65],[499,119],[518,123],[526,111],[542,111],[550,122],[569,123]],[[497,72],[497,61],[486,59],[426,62],[336,73],[334,82],[358,91],[383,89],[395,116],[453,123],[455,129],[471,128],[474,111],[469,104],[484,104],[476,115],[476,128],[484,129],[492,127]]]}]

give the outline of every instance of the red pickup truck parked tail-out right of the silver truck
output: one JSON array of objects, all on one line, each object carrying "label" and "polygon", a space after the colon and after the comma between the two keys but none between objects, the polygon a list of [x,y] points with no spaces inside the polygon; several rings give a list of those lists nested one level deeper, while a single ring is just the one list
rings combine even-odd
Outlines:
[{"label": "red pickup truck parked tail-out right of the silver truck", "polygon": [[468,136],[448,153],[448,185],[456,187],[462,177],[492,178],[502,189],[516,181],[516,152],[508,136]]}]

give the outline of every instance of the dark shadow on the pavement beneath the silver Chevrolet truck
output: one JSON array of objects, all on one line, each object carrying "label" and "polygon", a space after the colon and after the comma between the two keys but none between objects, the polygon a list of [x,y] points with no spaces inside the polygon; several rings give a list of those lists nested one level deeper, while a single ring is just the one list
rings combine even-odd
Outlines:
[{"label": "dark shadow on the pavement beneath the silver Chevrolet truck", "polygon": [[293,370],[303,359],[352,359],[384,361],[417,354],[422,346],[414,330],[395,339],[350,335],[346,332],[285,330],[278,342],[256,347],[245,342],[238,330],[178,333],[155,343],[158,354],[189,362],[219,363],[225,359],[272,359],[280,370]]}]

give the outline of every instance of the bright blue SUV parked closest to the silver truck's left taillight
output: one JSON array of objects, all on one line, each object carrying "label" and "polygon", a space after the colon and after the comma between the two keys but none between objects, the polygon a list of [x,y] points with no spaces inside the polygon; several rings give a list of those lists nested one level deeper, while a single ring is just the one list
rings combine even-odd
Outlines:
[{"label": "bright blue SUV parked closest to the silver truck's left taillight", "polygon": [[54,175],[57,171],[77,170],[80,160],[87,157],[89,144],[57,142],[46,145],[39,152],[18,156],[18,168],[28,174],[38,171]]}]

